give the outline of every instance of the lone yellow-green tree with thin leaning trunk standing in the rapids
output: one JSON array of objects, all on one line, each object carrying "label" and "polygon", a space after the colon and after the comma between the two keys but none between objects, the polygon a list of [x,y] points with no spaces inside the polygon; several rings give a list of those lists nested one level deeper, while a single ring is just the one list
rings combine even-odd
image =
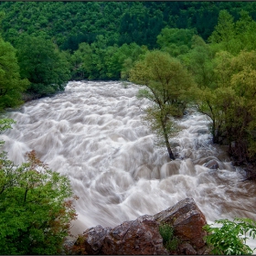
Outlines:
[{"label": "lone yellow-green tree with thin leaning trunk standing in the rapids", "polygon": [[170,134],[176,132],[171,116],[183,114],[194,84],[191,76],[177,59],[154,50],[134,65],[129,80],[145,86],[139,91],[139,97],[152,102],[145,110],[146,120],[158,137],[164,140],[169,157],[175,159],[169,143]]}]

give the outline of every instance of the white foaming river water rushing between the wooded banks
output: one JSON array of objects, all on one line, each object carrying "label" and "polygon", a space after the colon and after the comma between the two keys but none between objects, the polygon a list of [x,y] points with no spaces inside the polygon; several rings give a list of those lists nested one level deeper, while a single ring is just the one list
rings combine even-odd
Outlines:
[{"label": "white foaming river water rushing between the wooded banks", "polygon": [[[243,171],[211,144],[207,117],[189,112],[176,120],[183,130],[171,139],[176,161],[169,162],[141,120],[148,102],[137,91],[131,83],[70,81],[63,93],[8,113],[16,124],[1,135],[4,149],[16,164],[35,149],[51,169],[69,176],[80,197],[74,234],[154,215],[186,197],[209,223],[256,219],[256,186],[242,181]],[[206,166],[209,160],[218,170]]]}]

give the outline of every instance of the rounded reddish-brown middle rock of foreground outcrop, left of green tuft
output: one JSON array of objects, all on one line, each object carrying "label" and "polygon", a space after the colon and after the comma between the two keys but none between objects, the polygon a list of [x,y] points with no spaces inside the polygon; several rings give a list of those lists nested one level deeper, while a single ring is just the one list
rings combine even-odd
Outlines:
[{"label": "rounded reddish-brown middle rock of foreground outcrop, left of green tuft", "polygon": [[103,241],[103,254],[167,254],[153,216],[144,215],[112,229]]}]

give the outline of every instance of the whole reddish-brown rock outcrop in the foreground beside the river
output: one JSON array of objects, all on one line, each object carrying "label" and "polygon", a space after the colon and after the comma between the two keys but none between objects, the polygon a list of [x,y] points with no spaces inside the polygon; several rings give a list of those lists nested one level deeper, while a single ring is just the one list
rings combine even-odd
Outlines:
[{"label": "whole reddish-brown rock outcrop in the foreground beside the river", "polygon": [[168,254],[159,233],[159,225],[168,223],[174,228],[178,245],[172,254],[206,254],[208,248],[203,240],[207,224],[205,216],[197,208],[192,197],[178,202],[155,216],[144,215],[132,221],[124,221],[111,229],[96,226],[84,231],[75,241],[70,254],[104,255],[153,255]]}]

